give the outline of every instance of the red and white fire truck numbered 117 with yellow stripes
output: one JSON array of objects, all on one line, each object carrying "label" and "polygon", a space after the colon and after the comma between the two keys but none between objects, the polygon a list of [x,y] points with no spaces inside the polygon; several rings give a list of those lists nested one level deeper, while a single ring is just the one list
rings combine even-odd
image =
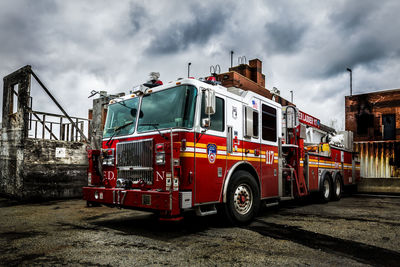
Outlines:
[{"label": "red and white fire truck numbered 117 with yellow stripes", "polygon": [[112,100],[102,149],[88,157],[89,204],[153,211],[163,220],[218,210],[243,224],[261,203],[311,193],[339,200],[360,179],[351,133],[330,142],[319,120],[294,106],[196,79]]}]

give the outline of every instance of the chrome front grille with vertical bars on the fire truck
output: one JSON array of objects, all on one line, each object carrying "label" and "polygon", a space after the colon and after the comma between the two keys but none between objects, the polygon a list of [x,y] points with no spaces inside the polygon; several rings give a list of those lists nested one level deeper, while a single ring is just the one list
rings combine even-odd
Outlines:
[{"label": "chrome front grille with vertical bars on the fire truck", "polygon": [[153,139],[117,144],[118,178],[153,183]]}]

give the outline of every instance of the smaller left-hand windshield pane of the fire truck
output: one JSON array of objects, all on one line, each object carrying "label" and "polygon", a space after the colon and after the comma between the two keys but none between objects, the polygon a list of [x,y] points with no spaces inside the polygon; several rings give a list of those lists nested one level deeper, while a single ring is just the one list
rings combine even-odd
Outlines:
[{"label": "smaller left-hand windshield pane of the fire truck", "polygon": [[139,98],[131,98],[108,106],[103,138],[132,134],[135,130]]}]

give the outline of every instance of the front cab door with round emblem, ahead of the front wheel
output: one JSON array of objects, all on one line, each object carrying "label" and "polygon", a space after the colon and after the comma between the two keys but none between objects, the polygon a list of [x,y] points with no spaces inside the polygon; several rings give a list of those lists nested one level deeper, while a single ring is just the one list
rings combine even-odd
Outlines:
[{"label": "front cab door with round emblem, ahead of the front wheel", "polygon": [[[195,204],[219,201],[226,171],[226,97],[216,93],[216,112],[211,125],[202,128],[195,140]],[[200,125],[205,114],[204,94],[201,101]],[[205,131],[205,132],[204,132]]]}]

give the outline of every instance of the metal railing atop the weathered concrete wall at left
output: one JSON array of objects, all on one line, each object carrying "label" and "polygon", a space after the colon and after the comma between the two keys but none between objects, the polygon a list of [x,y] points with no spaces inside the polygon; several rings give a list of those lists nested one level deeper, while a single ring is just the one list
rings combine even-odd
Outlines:
[{"label": "metal railing atop the weathered concrete wall at left", "polygon": [[[60,114],[29,111],[29,137],[38,139],[85,141],[81,133],[87,133],[90,121],[85,118],[70,117]],[[77,129],[78,128],[78,129]]]}]

